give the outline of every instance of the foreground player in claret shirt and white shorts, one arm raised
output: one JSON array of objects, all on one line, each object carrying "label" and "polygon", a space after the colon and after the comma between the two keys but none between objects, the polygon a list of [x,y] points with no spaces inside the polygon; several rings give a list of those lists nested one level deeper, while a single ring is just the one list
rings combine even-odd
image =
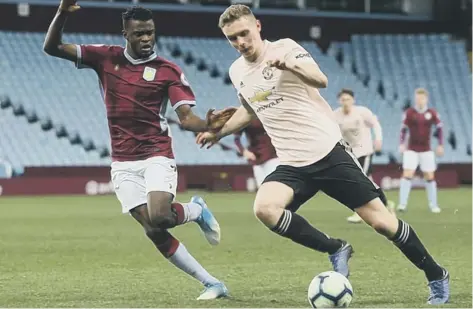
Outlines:
[{"label": "foreground player in claret shirt and white shorts, one arm raised", "polygon": [[123,213],[130,213],[143,226],[165,258],[204,285],[198,299],[225,296],[225,285],[168,232],[177,225],[196,222],[210,244],[220,241],[219,224],[201,197],[195,196],[189,203],[174,201],[177,168],[164,117],[168,98],[184,129],[205,131],[210,119],[193,114],[195,97],[184,73],[155,53],[151,11],[133,7],[123,13],[125,48],[63,43],[66,19],[79,8],[74,0],[61,1],[44,51],[97,72],[112,143],[111,177]]}]

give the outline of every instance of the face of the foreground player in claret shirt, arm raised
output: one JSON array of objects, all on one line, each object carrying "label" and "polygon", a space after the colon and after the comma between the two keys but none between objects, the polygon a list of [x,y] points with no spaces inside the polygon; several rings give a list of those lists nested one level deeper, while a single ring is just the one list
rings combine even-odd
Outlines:
[{"label": "face of the foreground player in claret shirt, arm raised", "polygon": [[146,58],[153,53],[156,37],[154,22],[152,19],[147,21],[128,21],[123,34],[128,41],[128,45],[131,48],[134,56],[138,58]]}]

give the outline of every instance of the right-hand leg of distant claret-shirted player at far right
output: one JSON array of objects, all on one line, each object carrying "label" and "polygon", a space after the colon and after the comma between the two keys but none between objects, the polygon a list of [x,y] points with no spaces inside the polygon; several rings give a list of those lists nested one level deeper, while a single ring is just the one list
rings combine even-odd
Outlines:
[{"label": "right-hand leg of distant claret-shirted player at far right", "polygon": [[435,181],[435,170],[437,164],[435,162],[435,154],[433,151],[420,153],[420,170],[424,174],[425,189],[427,191],[427,199],[429,200],[429,208],[433,213],[441,211],[437,202],[437,182]]}]

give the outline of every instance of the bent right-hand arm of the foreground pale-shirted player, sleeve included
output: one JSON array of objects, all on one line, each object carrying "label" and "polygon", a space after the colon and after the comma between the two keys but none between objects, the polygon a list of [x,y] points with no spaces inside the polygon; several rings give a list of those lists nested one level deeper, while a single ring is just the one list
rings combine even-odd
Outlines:
[{"label": "bent right-hand arm of the foreground pale-shirted player, sleeve included", "polygon": [[291,71],[304,83],[315,88],[326,88],[328,78],[322,72],[311,54],[291,39],[285,39],[287,51],[279,59],[271,61],[270,65],[281,70]]}]

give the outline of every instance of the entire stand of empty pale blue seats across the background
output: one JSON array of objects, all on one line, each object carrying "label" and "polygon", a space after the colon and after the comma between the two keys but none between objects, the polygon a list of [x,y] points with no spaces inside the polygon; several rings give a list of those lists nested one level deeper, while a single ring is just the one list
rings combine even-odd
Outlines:
[{"label": "entire stand of empty pale blue seats across the background", "polygon": [[[0,53],[4,55],[0,59],[0,94],[7,96],[0,100],[0,126],[5,136],[0,140],[0,157],[15,168],[108,165],[109,134],[96,74],[47,57],[42,51],[43,39],[43,33],[0,32]],[[99,34],[67,34],[65,41],[124,43],[121,36]],[[340,88],[348,87],[354,89],[360,104],[381,119],[384,151],[375,163],[399,159],[403,107],[419,86],[431,92],[433,105],[445,115],[447,133],[457,139],[456,149],[448,145],[441,160],[471,162],[471,152],[466,151],[471,149],[471,73],[460,43],[445,35],[357,35],[350,42],[332,44],[326,54],[313,42],[300,43],[327,73],[329,87],[322,94],[332,107],[337,106]],[[224,39],[160,37],[158,46],[161,56],[185,71],[197,96],[198,114],[238,104],[227,73],[237,53]],[[194,134],[179,128],[172,109],[167,117],[178,164],[244,164],[231,147],[199,149]],[[232,145],[232,137],[222,143]],[[10,156],[2,154],[2,149],[9,149]]]}]

